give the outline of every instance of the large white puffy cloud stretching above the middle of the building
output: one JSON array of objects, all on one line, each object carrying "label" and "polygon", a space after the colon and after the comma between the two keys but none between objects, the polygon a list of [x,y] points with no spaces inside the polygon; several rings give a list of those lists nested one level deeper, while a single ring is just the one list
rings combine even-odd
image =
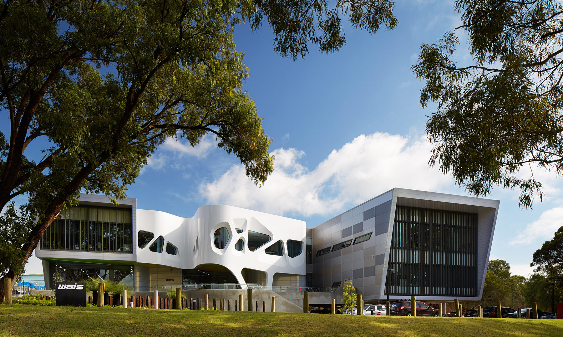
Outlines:
[{"label": "large white puffy cloud stretching above the middle of the building", "polygon": [[426,138],[360,135],[312,170],[300,163],[305,152],[280,148],[272,152],[274,172],[261,188],[245,176],[242,165],[233,165],[218,179],[200,184],[199,192],[211,203],[279,215],[328,215],[394,187],[440,190],[451,184],[428,167],[431,148]]}]

